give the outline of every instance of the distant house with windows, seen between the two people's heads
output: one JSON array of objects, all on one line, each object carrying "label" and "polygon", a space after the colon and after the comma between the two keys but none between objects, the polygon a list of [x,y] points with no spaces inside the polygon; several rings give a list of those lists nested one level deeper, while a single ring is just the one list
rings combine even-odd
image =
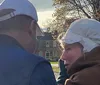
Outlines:
[{"label": "distant house with windows, seen between the two people's heads", "polygon": [[56,39],[53,39],[52,34],[45,32],[44,36],[38,36],[37,54],[45,57],[50,61],[57,61],[61,55]]}]

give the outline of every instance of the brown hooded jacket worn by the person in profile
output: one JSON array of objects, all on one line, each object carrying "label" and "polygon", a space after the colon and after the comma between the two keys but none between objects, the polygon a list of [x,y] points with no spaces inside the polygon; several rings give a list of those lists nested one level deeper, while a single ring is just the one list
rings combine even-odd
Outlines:
[{"label": "brown hooded jacket worn by the person in profile", "polygon": [[65,85],[100,85],[100,46],[80,57],[68,74]]}]

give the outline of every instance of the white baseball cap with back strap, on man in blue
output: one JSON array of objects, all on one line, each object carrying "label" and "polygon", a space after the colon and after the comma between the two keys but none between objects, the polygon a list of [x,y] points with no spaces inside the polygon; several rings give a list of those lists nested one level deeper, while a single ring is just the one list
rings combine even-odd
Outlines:
[{"label": "white baseball cap with back strap, on man in blue", "polygon": [[[10,19],[16,15],[27,15],[38,21],[35,7],[28,0],[3,0],[0,4],[0,21]],[[37,28],[38,34],[41,35],[41,29]],[[39,36],[38,35],[38,36]]]}]

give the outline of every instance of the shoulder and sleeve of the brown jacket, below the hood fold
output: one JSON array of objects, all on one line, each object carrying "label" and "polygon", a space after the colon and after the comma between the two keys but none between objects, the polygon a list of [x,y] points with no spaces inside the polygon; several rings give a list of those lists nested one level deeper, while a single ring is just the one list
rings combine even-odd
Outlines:
[{"label": "shoulder and sleeve of the brown jacket, below the hood fold", "polygon": [[66,80],[65,85],[100,85],[100,72],[97,66],[74,73]]}]

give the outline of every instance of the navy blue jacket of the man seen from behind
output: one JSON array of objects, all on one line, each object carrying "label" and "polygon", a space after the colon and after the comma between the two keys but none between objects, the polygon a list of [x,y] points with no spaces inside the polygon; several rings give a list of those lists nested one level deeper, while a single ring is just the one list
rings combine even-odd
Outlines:
[{"label": "navy blue jacket of the man seen from behind", "polygon": [[56,85],[56,80],[48,61],[0,35],[0,85]]}]

